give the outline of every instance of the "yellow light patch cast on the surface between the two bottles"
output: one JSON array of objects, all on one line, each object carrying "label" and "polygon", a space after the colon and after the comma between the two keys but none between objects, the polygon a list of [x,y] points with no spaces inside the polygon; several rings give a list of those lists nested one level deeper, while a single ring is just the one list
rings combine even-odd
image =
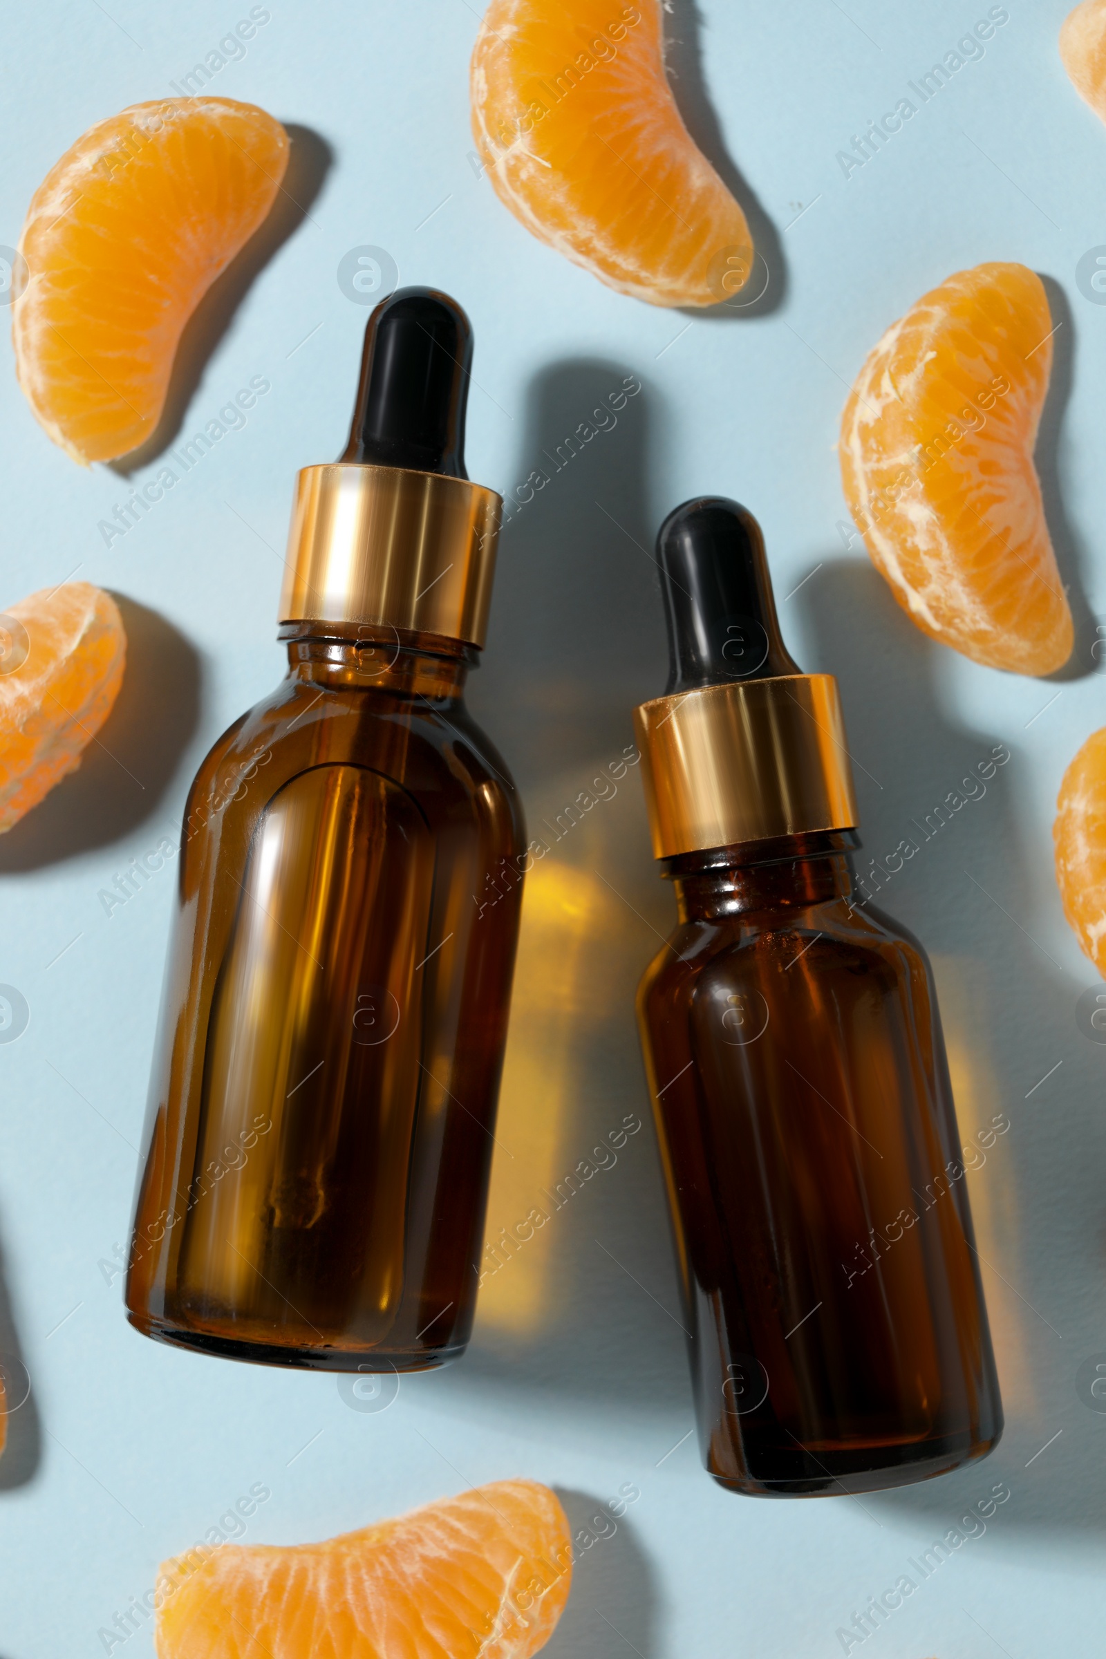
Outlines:
[{"label": "yellow light patch cast on the surface between the two bottles", "polygon": [[[570,800],[580,785],[562,786]],[[623,1115],[648,1117],[633,994],[658,939],[642,909],[655,906],[665,927],[675,912],[637,773],[615,793],[559,839],[547,820],[531,830],[546,833],[549,853],[526,878],[478,1316],[524,1339],[572,1297],[565,1216],[589,1199],[574,1196],[560,1216],[559,1185],[564,1196],[565,1178]]]}]

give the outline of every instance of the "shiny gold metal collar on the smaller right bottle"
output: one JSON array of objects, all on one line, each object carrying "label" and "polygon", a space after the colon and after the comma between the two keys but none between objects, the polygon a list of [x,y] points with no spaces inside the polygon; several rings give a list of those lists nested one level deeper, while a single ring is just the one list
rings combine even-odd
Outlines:
[{"label": "shiny gold metal collar on the smaller right bottle", "polygon": [[832,674],[655,697],[633,725],[655,858],[857,825]]}]

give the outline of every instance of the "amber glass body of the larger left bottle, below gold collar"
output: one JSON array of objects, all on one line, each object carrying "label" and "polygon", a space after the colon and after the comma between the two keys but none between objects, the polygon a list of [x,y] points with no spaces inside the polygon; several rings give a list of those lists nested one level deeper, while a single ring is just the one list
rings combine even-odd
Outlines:
[{"label": "amber glass body of the larger left bottle, below gold collar", "polygon": [[524,833],[474,652],[290,625],[192,785],[126,1286],[169,1342],[423,1369],[468,1342]]}]

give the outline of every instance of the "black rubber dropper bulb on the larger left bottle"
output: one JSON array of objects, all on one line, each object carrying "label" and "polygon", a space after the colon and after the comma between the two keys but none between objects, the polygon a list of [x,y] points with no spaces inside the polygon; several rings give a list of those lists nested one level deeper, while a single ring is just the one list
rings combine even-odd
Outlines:
[{"label": "black rubber dropper bulb on the larger left bottle", "polygon": [[350,443],[340,461],[468,478],[473,328],[438,289],[396,289],[365,328]]}]

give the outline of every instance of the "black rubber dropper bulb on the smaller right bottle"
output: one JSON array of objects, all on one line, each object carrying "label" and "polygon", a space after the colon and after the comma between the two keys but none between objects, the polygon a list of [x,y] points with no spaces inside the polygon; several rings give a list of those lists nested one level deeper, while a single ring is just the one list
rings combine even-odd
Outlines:
[{"label": "black rubber dropper bulb on the smaller right bottle", "polygon": [[698,496],[670,513],[657,536],[668,685],[691,692],[730,680],[803,674],[779,634],[764,538],[725,496]]}]

